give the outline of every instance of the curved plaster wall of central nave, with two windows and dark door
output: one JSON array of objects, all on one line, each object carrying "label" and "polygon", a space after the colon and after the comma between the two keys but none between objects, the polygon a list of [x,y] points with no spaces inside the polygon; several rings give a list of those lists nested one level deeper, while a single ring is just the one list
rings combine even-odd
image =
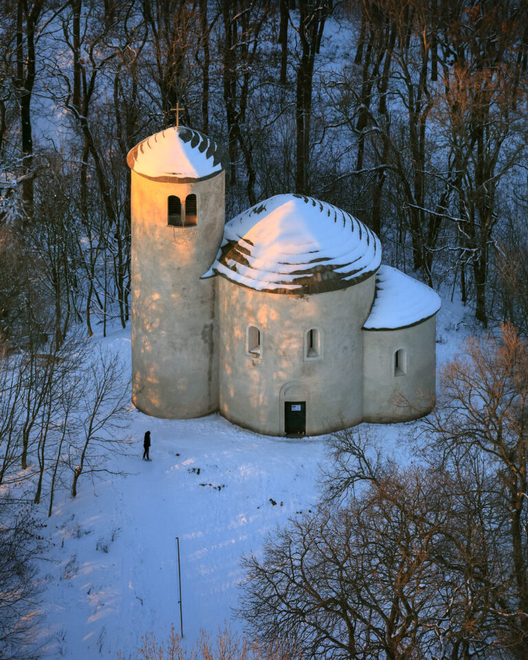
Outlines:
[{"label": "curved plaster wall of central nave, with two windows and dark door", "polygon": [[[363,415],[363,332],[375,276],[311,296],[219,284],[220,412],[246,428],[284,434],[284,401],[307,401],[307,434],[351,426]],[[246,353],[246,329],[261,330],[261,357]],[[304,359],[305,332],[322,333],[322,358]],[[300,397],[305,397],[300,399]]]}]

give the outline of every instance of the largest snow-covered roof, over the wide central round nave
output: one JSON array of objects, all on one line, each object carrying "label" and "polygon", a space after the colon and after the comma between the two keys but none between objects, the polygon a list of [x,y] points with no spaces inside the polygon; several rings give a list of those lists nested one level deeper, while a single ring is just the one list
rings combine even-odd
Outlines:
[{"label": "largest snow-covered roof, over the wide central round nave", "polygon": [[351,214],[305,195],[275,195],[225,225],[214,273],[273,293],[314,294],[375,273],[382,247]]}]

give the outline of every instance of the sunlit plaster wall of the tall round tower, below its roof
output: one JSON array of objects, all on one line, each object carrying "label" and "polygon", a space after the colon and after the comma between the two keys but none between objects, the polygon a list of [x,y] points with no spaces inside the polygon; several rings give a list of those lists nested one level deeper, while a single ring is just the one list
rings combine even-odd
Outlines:
[{"label": "sunlit plaster wall of the tall round tower, below its roof", "polygon": [[[137,408],[181,419],[218,408],[215,278],[201,280],[224,226],[224,173],[181,184],[132,171],[132,388]],[[167,199],[197,195],[195,227],[167,224]]]}]

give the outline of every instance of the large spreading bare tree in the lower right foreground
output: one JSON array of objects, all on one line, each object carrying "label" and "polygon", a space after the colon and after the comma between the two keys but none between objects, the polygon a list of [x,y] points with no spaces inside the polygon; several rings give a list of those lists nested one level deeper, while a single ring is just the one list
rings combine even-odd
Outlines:
[{"label": "large spreading bare tree in the lower right foreground", "polygon": [[263,560],[243,560],[240,613],[252,632],[309,657],[435,657],[437,593],[450,591],[435,556],[448,519],[442,479],[387,471],[342,507],[321,505],[268,538]]}]

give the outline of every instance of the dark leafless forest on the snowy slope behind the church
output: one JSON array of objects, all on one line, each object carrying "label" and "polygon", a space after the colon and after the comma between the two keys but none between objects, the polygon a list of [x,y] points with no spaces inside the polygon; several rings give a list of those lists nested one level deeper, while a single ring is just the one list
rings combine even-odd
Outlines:
[{"label": "dark leafless forest on the snowy slope behind the church", "polygon": [[125,157],[174,123],[177,102],[225,146],[228,218],[279,192],[331,201],[380,234],[386,261],[460,291],[483,324],[526,323],[526,3],[5,0],[0,12],[4,339],[37,320],[58,342],[72,323],[126,322]]}]

